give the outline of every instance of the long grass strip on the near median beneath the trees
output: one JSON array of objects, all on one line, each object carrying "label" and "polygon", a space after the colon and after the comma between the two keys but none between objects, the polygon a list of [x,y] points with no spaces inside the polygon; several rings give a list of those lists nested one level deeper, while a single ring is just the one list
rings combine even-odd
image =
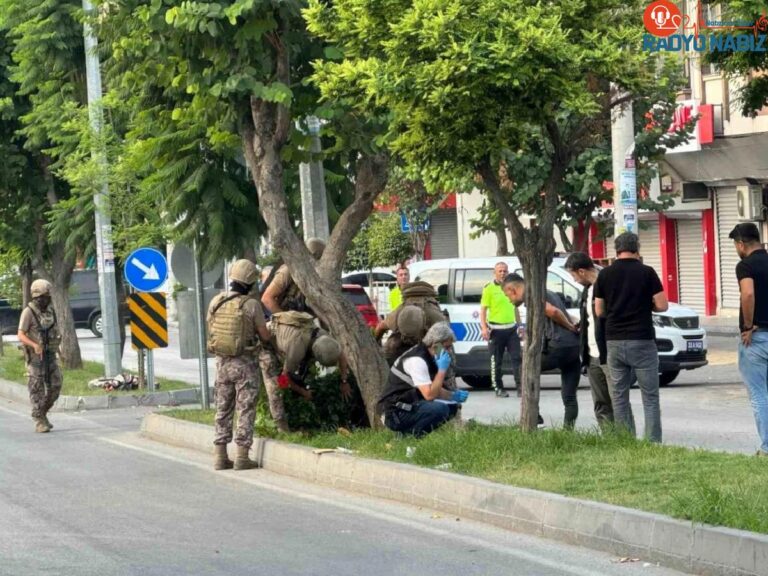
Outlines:
[{"label": "long grass strip on the near median beneath the trees", "polygon": [[[213,424],[214,411],[176,409],[174,418]],[[539,430],[469,423],[421,440],[388,431],[262,436],[315,448],[425,467],[450,463],[459,474],[594,500],[683,520],[768,533],[768,458],[638,441],[625,434]],[[416,449],[406,457],[406,447]]]}]

